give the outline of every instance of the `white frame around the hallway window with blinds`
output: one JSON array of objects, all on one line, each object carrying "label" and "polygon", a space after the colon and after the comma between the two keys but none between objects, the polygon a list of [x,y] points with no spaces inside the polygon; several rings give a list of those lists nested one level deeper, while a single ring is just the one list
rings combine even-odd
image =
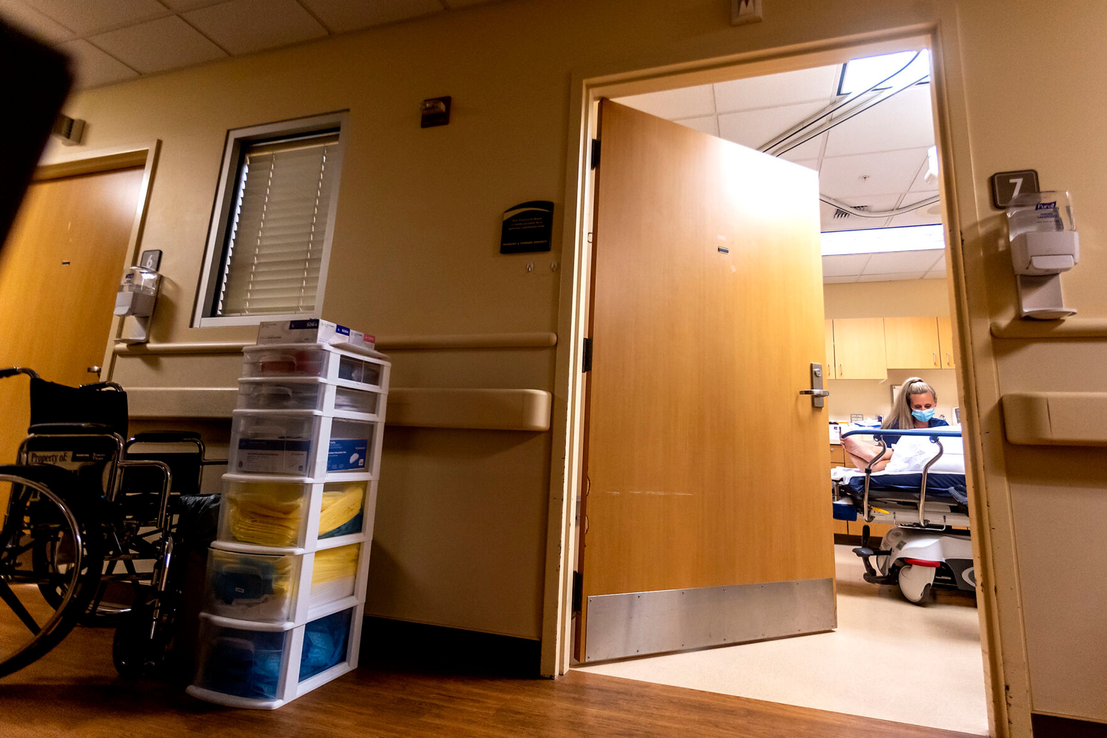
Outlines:
[{"label": "white frame around the hallway window with blinds", "polygon": [[[215,206],[211,208],[211,220],[208,225],[207,247],[204,253],[204,269],[200,272],[200,283],[196,294],[196,306],[193,310],[193,328],[214,328],[217,325],[257,325],[265,321],[304,320],[320,318],[323,305],[323,291],[327,285],[327,272],[331,260],[331,236],[334,231],[334,217],[338,212],[339,184],[342,176],[342,153],[345,148],[343,136],[346,128],[345,111],[313,115],[294,121],[281,121],[265,125],[234,128],[227,132],[227,143],[223,150],[223,164],[219,168],[219,186],[216,189]],[[339,144],[335,147],[332,166],[334,188],[327,217],[327,232],[323,235],[323,254],[319,264],[319,283],[315,287],[315,309],[300,313],[271,313],[266,315],[213,315],[215,310],[215,290],[219,284],[219,270],[223,267],[223,254],[227,239],[228,221],[235,205],[235,185],[238,181],[238,168],[242,158],[242,148],[257,141],[296,136],[337,129]]]}]

